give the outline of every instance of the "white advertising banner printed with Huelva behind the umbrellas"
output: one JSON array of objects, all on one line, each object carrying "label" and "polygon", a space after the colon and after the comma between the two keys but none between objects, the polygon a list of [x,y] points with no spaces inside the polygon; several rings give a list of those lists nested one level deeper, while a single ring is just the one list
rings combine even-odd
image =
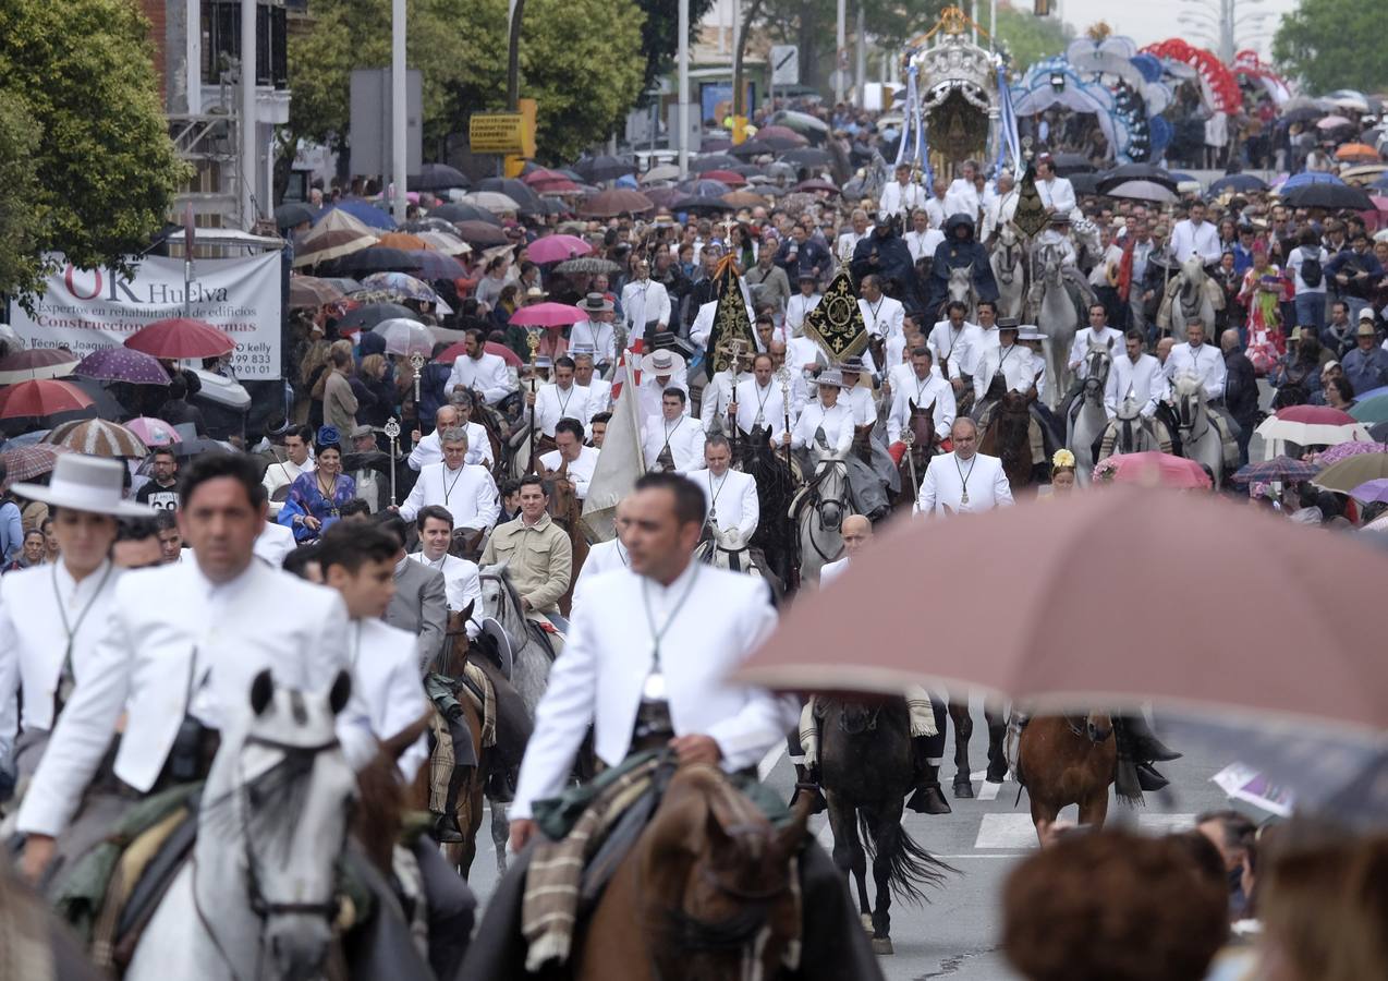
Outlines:
[{"label": "white advertising banner printed with Huelva behind the umbrellas", "polygon": [[282,299],[278,252],[200,258],[187,283],[182,258],[149,256],[133,278],[64,264],[32,314],[11,304],[10,325],[31,347],[67,345],[85,357],[157,320],[193,317],[235,338],[236,377],[258,381],[279,378]]}]

